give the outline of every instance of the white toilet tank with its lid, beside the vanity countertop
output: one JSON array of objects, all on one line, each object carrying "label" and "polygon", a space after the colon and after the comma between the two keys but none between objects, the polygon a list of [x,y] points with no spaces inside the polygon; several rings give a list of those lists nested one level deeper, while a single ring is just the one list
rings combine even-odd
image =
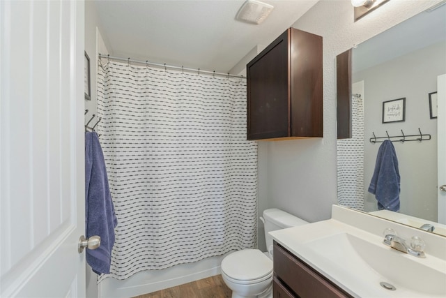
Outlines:
[{"label": "white toilet tank with its lid, beside the vanity countertop", "polygon": [[272,208],[266,209],[263,211],[263,218],[265,220],[265,239],[266,239],[266,248],[270,255],[272,255],[272,237],[268,232],[272,232],[275,230],[285,229],[296,227],[298,225],[305,225],[308,223],[304,221],[302,218],[298,218],[293,216],[285,211]]}]

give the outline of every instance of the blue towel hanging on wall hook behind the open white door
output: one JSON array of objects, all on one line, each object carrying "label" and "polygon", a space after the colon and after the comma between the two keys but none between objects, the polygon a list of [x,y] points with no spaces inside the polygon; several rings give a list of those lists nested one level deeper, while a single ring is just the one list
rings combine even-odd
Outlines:
[{"label": "blue towel hanging on wall hook behind the open white door", "polygon": [[86,262],[96,274],[109,274],[118,224],[109,191],[107,169],[98,135],[85,133],[85,230],[86,238],[100,237],[100,246],[86,249]]}]

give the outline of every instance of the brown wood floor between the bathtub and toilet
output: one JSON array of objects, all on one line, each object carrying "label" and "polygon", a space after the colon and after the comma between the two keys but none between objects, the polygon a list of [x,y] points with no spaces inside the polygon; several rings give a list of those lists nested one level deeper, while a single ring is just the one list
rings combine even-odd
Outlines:
[{"label": "brown wood floor between the bathtub and toilet", "polygon": [[231,295],[222,276],[216,275],[134,298],[231,298]]}]

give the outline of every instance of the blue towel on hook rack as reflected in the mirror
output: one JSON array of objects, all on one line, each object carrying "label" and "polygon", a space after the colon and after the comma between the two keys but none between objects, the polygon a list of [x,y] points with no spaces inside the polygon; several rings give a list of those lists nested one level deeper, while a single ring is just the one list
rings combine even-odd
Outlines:
[{"label": "blue towel on hook rack as reflected in the mirror", "polygon": [[369,193],[378,200],[379,210],[399,211],[400,177],[395,147],[390,140],[385,140],[378,149]]}]

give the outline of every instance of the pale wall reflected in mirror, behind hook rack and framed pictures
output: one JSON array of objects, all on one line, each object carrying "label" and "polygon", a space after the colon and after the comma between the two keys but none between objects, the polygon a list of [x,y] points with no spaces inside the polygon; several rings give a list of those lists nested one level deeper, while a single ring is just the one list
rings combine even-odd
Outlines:
[{"label": "pale wall reflected in mirror, behind hook rack and framed pictures", "polygon": [[[377,137],[429,133],[426,142],[394,142],[401,175],[401,213],[437,221],[437,120],[430,119],[429,93],[437,89],[437,76],[446,73],[446,44],[437,43],[403,57],[353,74],[364,80],[364,198],[365,211],[374,211],[376,199],[368,193],[380,143]],[[429,58],[429,59],[428,59]],[[443,63],[442,63],[443,62]],[[382,123],[383,101],[406,98],[406,121]]]}]

